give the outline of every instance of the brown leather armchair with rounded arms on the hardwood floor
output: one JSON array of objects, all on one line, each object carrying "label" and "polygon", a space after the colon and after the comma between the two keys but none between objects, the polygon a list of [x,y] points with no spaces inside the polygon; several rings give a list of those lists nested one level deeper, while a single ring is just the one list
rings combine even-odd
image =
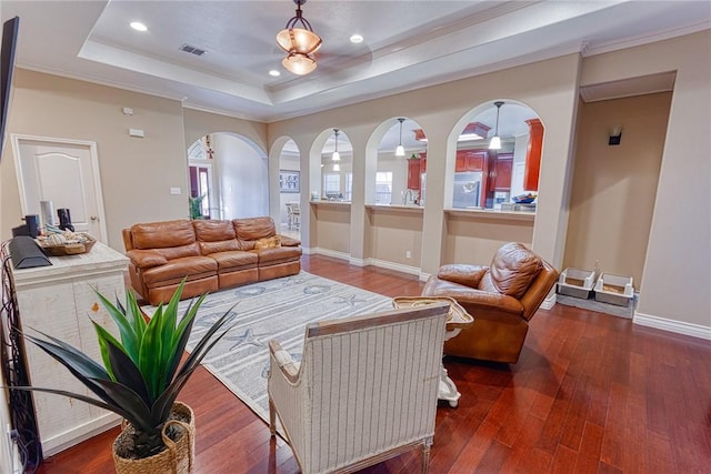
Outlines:
[{"label": "brown leather armchair with rounded arms on the hardwood floor", "polygon": [[474,317],[444,343],[444,353],[515,364],[529,321],[558,280],[558,271],[524,245],[502,245],[490,266],[449,264],[430,276],[422,295],[450,296]]}]

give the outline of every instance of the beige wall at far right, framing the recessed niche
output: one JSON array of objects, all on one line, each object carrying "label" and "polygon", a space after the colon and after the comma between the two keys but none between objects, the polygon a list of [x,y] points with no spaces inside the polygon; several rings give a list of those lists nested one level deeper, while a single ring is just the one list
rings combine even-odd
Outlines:
[{"label": "beige wall at far right, framing the recessed niche", "polygon": [[711,30],[705,30],[588,58],[581,74],[581,85],[587,85],[677,71],[634,321],[680,332],[688,329],[707,339],[711,339],[709,58]]}]

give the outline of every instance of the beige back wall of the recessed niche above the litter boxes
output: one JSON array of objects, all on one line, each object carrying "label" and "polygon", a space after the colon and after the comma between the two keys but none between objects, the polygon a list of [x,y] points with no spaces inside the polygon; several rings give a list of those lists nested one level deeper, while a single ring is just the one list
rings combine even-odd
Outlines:
[{"label": "beige back wall of the recessed niche above the litter boxes", "polygon": [[[598,262],[640,289],[670,104],[663,92],[581,105],[564,268]],[[622,140],[610,147],[618,125]]]}]

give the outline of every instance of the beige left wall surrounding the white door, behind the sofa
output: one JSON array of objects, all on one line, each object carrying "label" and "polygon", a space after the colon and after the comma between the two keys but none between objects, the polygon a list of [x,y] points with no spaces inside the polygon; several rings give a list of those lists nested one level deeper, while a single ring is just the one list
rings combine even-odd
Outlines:
[{"label": "beige left wall surrounding the white door, behind the sofa", "polygon": [[[122,108],[133,109],[124,115]],[[129,128],[146,138],[129,137]],[[109,245],[121,229],[188,216],[188,170],[180,102],[18,69],[8,133],[97,142]],[[2,238],[21,218],[12,147],[0,164]],[[180,188],[171,195],[170,188]]]}]

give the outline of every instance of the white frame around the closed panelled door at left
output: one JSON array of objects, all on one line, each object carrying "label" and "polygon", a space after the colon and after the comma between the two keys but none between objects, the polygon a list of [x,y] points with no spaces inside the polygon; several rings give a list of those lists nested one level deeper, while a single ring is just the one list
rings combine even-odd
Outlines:
[{"label": "white frame around the closed panelled door at left", "polygon": [[14,157],[14,173],[18,180],[18,191],[20,194],[20,208],[22,210],[22,215],[27,214],[27,200],[24,199],[24,179],[22,177],[22,163],[20,157],[20,144],[24,141],[34,141],[34,142],[43,142],[47,145],[51,145],[53,143],[57,144],[69,144],[77,145],[78,148],[88,148],[89,157],[91,160],[91,170],[92,175],[91,180],[93,182],[94,189],[94,199],[97,202],[97,216],[99,218],[99,234],[93,235],[98,241],[102,243],[108,243],[109,232],[107,230],[106,223],[106,213],[103,210],[103,189],[101,188],[101,175],[99,170],[99,154],[97,152],[97,142],[88,141],[88,140],[74,140],[74,139],[58,139],[52,137],[38,137],[38,135],[27,135],[21,133],[11,133],[10,140],[12,141],[12,154]]}]

